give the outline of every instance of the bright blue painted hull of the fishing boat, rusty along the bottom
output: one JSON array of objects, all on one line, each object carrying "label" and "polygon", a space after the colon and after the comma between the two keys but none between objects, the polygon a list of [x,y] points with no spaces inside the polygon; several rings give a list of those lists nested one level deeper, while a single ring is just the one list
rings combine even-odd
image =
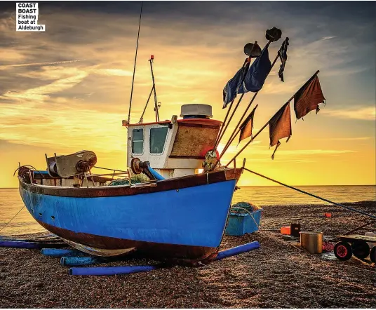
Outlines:
[{"label": "bright blue painted hull of the fishing boat, rusty along the bottom", "polygon": [[[92,188],[96,194],[90,189],[74,189],[72,194],[66,188],[47,191],[46,186],[20,180],[20,195],[39,224],[68,241],[104,250],[135,248],[154,257],[202,260],[215,254],[222,241],[237,178],[125,195],[120,187],[117,194],[107,195],[108,187]],[[170,184],[160,182],[161,189]]]}]

